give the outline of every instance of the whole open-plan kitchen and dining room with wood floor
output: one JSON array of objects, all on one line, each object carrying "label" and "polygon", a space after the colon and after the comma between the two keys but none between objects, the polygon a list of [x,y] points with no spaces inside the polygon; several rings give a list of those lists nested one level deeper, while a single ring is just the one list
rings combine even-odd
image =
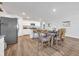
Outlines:
[{"label": "whole open-plan kitchen and dining room with wood floor", "polygon": [[[2,49],[4,55],[79,55],[79,8],[77,4],[0,3],[0,44],[3,45],[1,47],[4,47]],[[63,37],[60,36],[62,40],[59,40],[59,35],[62,35],[59,34],[62,32],[59,31],[60,29],[64,32]],[[55,37],[54,34],[51,34],[52,31],[56,34]],[[50,42],[47,41],[48,39],[53,40]]]}]

